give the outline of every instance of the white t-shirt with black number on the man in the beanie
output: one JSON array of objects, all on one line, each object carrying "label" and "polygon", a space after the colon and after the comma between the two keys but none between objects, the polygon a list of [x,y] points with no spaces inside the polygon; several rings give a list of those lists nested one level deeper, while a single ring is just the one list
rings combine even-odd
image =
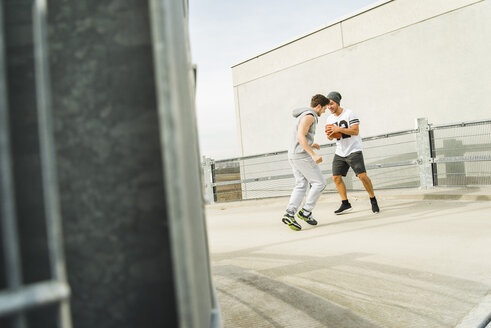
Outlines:
[{"label": "white t-shirt with black number on the man in the beanie", "polygon": [[[326,124],[335,124],[342,128],[350,128],[352,125],[360,124],[360,120],[352,110],[343,108],[343,111],[339,116],[334,114],[329,115]],[[346,157],[355,151],[362,151],[360,134],[357,136],[343,134],[340,139],[336,139],[337,155]]]}]

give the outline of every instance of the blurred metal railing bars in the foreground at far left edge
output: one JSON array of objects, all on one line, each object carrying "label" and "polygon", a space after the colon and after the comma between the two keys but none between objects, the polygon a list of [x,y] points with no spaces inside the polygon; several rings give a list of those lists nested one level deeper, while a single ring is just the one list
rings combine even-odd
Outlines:
[{"label": "blurred metal railing bars in the foreground at far left edge", "polygon": [[[47,304],[58,303],[57,322],[60,327],[70,328],[70,287],[67,283],[60,207],[53,162],[54,146],[51,122],[50,83],[47,63],[46,0],[33,2],[34,67],[36,73],[36,100],[39,122],[40,157],[42,166],[44,208],[51,280],[23,285],[21,257],[15,212],[15,192],[12,181],[12,158],[10,150],[8,103],[5,81],[5,48],[3,29],[0,31],[0,179],[2,202],[2,240],[5,258],[6,290],[0,291],[0,317],[10,316],[12,327],[27,326],[25,312]],[[3,2],[0,2],[0,27],[3,27]]]}]

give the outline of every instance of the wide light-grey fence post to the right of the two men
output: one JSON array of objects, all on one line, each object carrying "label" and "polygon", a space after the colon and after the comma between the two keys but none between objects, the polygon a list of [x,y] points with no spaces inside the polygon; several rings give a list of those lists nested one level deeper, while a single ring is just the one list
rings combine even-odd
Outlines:
[{"label": "wide light-grey fence post to the right of the two men", "polygon": [[416,148],[418,151],[419,181],[421,189],[433,187],[433,170],[430,148],[430,126],[427,118],[417,119]]}]

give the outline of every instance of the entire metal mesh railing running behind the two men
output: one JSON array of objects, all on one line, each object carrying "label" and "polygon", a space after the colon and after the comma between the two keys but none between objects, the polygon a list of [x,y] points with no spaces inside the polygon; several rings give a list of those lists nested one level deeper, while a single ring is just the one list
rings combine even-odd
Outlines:
[{"label": "entire metal mesh railing running behind the two men", "polygon": [[[363,155],[376,189],[491,185],[491,120],[433,125],[425,118],[417,128],[363,138]],[[331,163],[335,143],[318,153],[326,176],[324,192],[335,192]],[[294,178],[287,151],[203,161],[208,202],[290,195]],[[348,190],[364,190],[350,170]]]}]

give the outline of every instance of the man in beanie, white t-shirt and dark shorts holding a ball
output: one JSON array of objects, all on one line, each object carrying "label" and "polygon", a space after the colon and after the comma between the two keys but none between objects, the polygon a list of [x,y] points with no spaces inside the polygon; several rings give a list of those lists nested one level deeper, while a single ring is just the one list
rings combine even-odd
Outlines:
[{"label": "man in beanie, white t-shirt and dark shorts holding a ball", "polygon": [[342,178],[346,176],[350,167],[367,190],[373,213],[378,213],[380,210],[373,192],[372,181],[367,176],[365,162],[363,160],[361,137],[359,134],[360,120],[353,111],[340,106],[341,95],[339,92],[330,92],[327,95],[327,99],[329,99],[327,108],[331,112],[331,115],[326,120],[327,138],[333,140],[335,133],[341,133],[341,137],[336,139],[336,154],[332,161],[332,178],[342,202],[341,207],[334,211],[334,213],[342,214],[351,210],[351,204],[346,194],[346,185]]}]

